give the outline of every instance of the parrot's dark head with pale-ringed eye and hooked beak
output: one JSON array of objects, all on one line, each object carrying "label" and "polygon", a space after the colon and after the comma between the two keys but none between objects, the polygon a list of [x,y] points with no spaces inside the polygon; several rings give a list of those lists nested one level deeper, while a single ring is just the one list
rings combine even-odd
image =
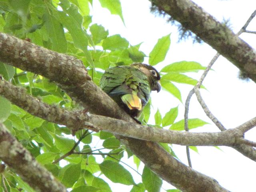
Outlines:
[{"label": "parrot's dark head with pale-ringed eye and hooked beak", "polygon": [[159,92],[161,90],[160,74],[154,67],[143,63],[134,63],[132,66],[138,68],[148,77],[148,82],[152,91]]}]

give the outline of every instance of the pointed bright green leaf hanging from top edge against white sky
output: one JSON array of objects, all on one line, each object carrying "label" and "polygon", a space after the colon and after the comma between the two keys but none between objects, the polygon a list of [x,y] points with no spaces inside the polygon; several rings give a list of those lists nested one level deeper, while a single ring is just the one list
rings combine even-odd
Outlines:
[{"label": "pointed bright green leaf hanging from top edge against white sky", "polygon": [[111,14],[118,15],[124,23],[122,7],[119,0],[99,0],[102,7],[107,8]]}]

